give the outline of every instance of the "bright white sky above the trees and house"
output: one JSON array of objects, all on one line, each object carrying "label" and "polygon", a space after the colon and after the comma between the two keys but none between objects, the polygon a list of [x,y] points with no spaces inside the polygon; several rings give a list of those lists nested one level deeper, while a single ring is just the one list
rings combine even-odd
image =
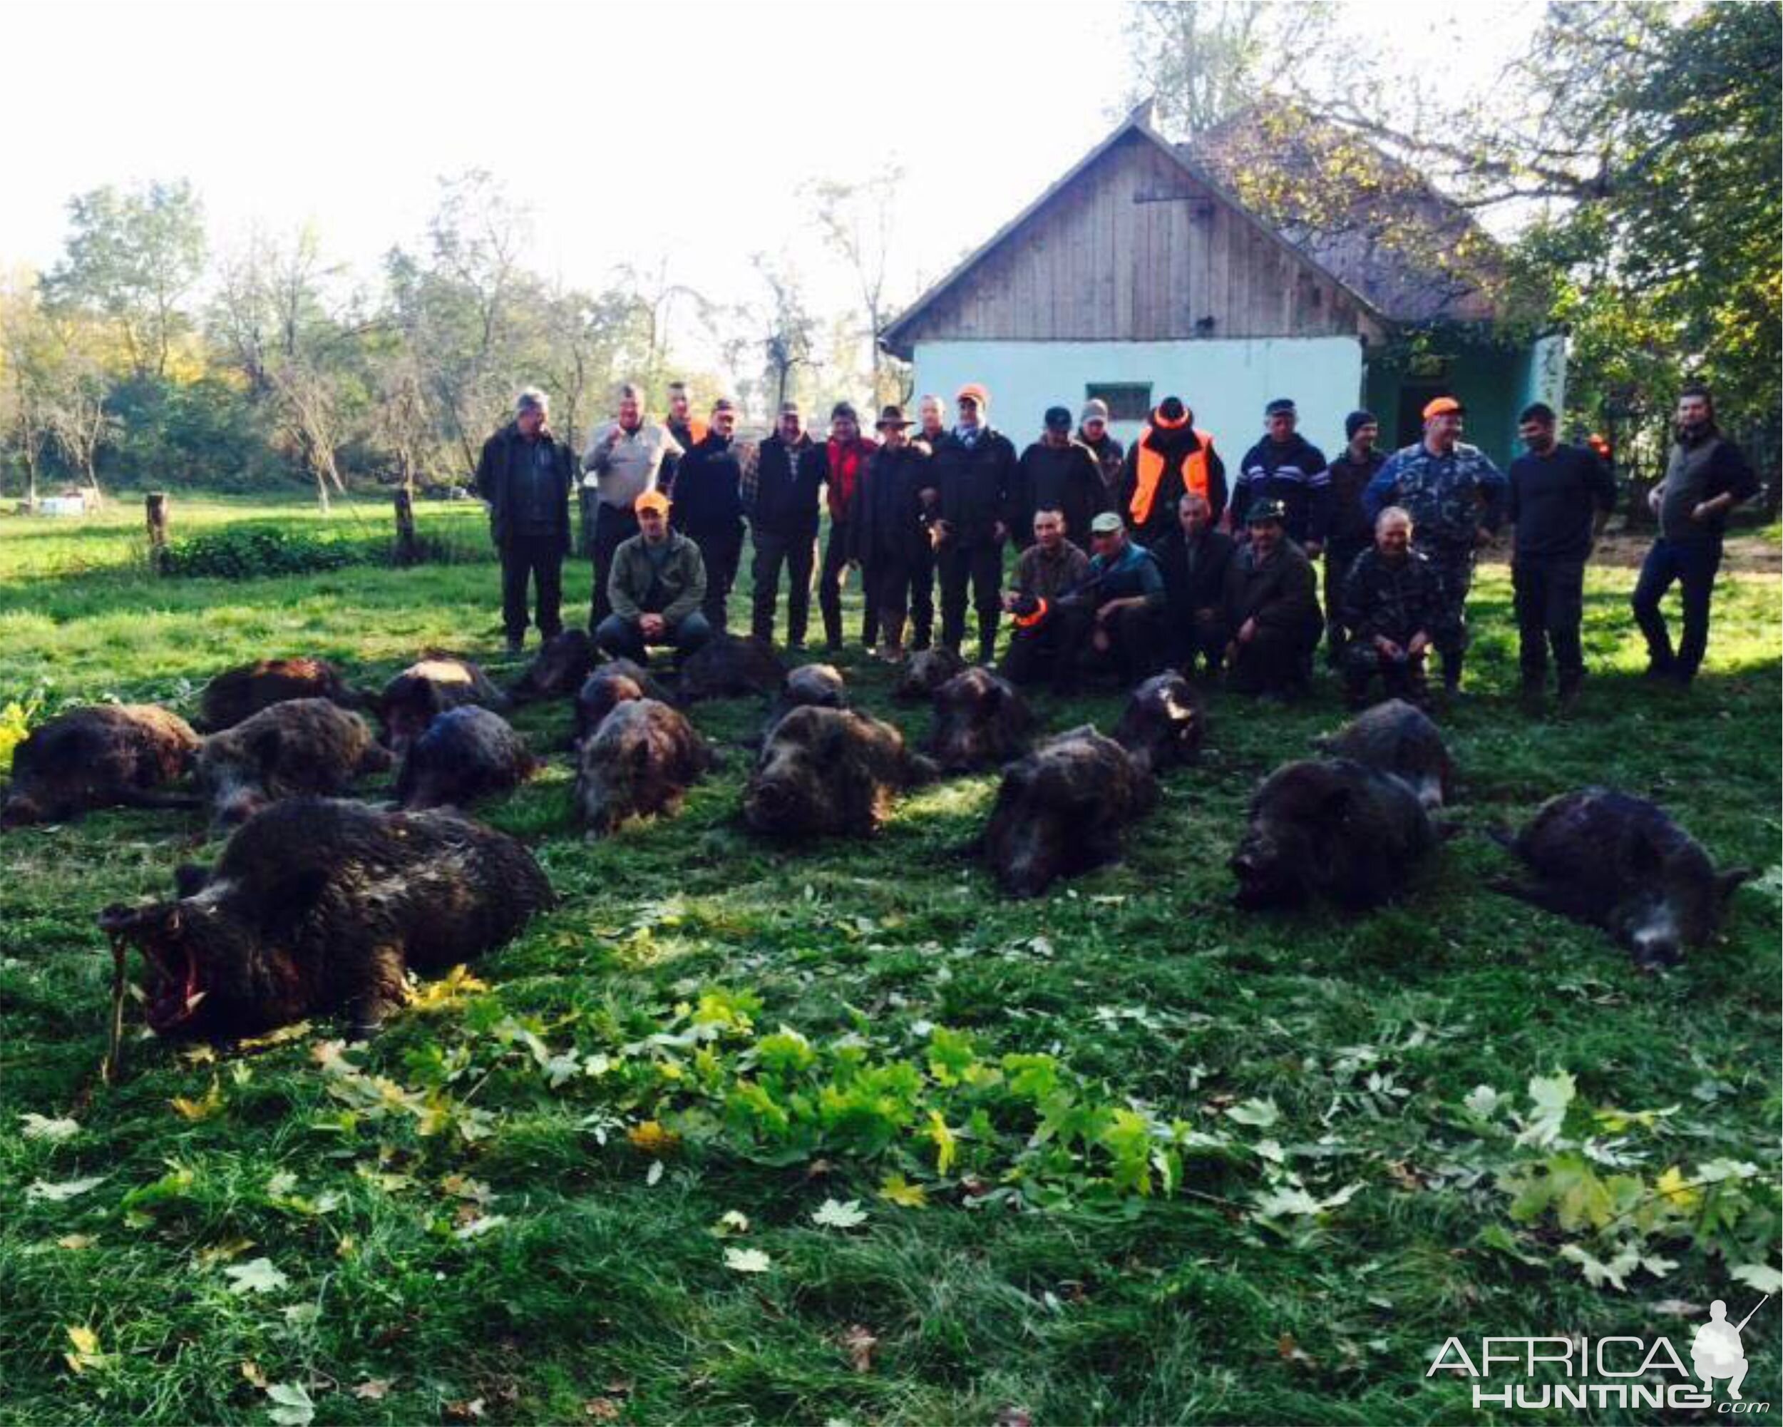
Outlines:
[{"label": "bright white sky above the trees and house", "polygon": [[[1360,32],[1480,75],[1505,39],[1494,16],[1528,0],[1350,9]],[[911,296],[1107,132],[1122,20],[1114,0],[37,0],[0,20],[0,268],[55,260],[73,193],[187,177],[214,246],[312,219],[371,276],[419,241],[437,175],[487,168],[531,209],[540,271],[597,289],[667,257],[672,282],[733,301],[756,294],[752,252],[815,255],[799,182],[902,159]],[[843,296],[817,262],[808,276]]]}]

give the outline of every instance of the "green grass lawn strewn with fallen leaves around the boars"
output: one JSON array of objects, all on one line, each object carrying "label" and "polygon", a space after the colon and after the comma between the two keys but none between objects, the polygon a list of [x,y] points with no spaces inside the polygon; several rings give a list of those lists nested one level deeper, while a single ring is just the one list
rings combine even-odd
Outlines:
[{"label": "green grass lawn strewn with fallen leaves around the boars", "polygon": [[[317,519],[178,501],[175,533],[246,514]],[[421,510],[465,548],[478,519]],[[1341,719],[1328,678],[1289,712],[1216,692],[1204,765],[1127,862],[1032,903],[959,851],[990,776],[906,797],[872,845],[781,849],[736,819],[733,747],[679,819],[590,845],[569,710],[537,706],[517,722],[551,767],[483,812],[556,911],[369,1047],[326,1022],[223,1054],[137,1040],[105,1088],[94,911],[218,847],[184,813],[9,833],[0,1416],[1419,1423],[1475,1416],[1466,1381],[1426,1379],[1450,1336],[1689,1356],[1708,1300],[1738,1320],[1778,1261],[1774,555],[1722,576],[1689,696],[1640,685],[1633,571],[1596,569],[1564,722],[1516,710],[1485,567],[1446,721],[1464,833],[1357,920],[1228,901],[1250,788]],[[567,583],[574,610],[581,562]],[[0,706],[39,719],[193,714],[275,653],[374,685],[430,644],[499,660],[487,558],[155,580],[134,507],[0,521]],[[924,731],[883,669],[845,669]],[[1107,728],[1116,703],[1041,712]],[[695,722],[735,744],[760,715]],[[1585,783],[1767,869],[1717,945],[1642,976],[1485,890],[1507,862],[1483,828]],[[1776,1300],[1746,1345],[1747,1397],[1772,1397]]]}]

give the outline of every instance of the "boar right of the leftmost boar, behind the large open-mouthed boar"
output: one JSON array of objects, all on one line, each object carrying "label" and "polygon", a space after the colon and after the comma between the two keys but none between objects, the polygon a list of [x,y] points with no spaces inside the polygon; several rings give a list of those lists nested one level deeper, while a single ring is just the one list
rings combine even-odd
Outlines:
[{"label": "boar right of the leftmost boar, behind the large open-mouthed boar", "polygon": [[205,738],[198,787],[212,822],[237,828],[269,803],[342,794],[389,765],[358,714],[328,699],[289,699]]}]

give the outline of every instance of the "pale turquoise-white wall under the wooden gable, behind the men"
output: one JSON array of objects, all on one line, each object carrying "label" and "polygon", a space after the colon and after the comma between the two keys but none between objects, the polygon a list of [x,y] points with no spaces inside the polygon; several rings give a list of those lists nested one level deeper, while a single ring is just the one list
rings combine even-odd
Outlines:
[{"label": "pale turquoise-white wall under the wooden gable, behind the men", "polygon": [[[1362,346],[1355,337],[1250,337],[1191,342],[916,342],[916,396],[949,403],[966,382],[991,394],[991,425],[1016,450],[1039,435],[1047,407],[1075,416],[1084,387],[1150,382],[1152,401],[1180,396],[1195,425],[1236,460],[1262,433],[1262,407],[1291,396],[1300,430],[1327,455],[1343,441],[1343,419],[1362,396]],[[915,405],[915,401],[911,403]],[[1114,423],[1123,442],[1138,423]]]}]

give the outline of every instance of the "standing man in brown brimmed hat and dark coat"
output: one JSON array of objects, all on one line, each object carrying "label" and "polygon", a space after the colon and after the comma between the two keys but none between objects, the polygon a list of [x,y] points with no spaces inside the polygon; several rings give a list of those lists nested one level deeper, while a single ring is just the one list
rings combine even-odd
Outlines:
[{"label": "standing man in brown brimmed hat and dark coat", "polygon": [[867,598],[879,610],[886,660],[904,656],[904,615],[915,615],[913,640],[927,649],[934,633],[934,549],[925,499],[934,496],[929,448],[909,439],[902,407],[886,407],[875,423],[879,450],[867,460],[856,494],[856,540],[867,571]]}]

